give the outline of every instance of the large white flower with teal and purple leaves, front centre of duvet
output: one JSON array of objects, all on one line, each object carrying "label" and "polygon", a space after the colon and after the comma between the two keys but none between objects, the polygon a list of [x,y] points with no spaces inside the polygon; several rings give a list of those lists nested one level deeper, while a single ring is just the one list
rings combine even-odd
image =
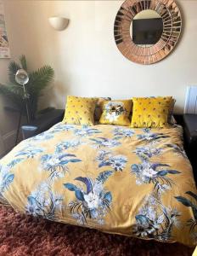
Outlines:
[{"label": "large white flower with teal and purple leaves, front centre of duvet", "polygon": [[112,195],[104,189],[104,182],[112,172],[101,172],[96,180],[90,177],[76,177],[75,180],[83,183],[85,189],[73,183],[65,183],[66,189],[76,195],[76,201],[70,201],[68,207],[73,218],[79,224],[87,224],[87,218],[92,218],[98,224],[104,224],[104,216],[110,210]]}]

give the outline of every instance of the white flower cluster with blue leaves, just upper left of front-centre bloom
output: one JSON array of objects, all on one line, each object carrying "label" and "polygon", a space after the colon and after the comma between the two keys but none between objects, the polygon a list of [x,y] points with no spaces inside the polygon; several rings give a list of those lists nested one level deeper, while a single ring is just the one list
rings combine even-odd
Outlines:
[{"label": "white flower cluster with blue leaves, just upper left of front-centre bloom", "polygon": [[65,177],[65,172],[69,172],[69,163],[81,162],[75,154],[44,154],[41,157],[41,170],[48,171],[49,178]]}]

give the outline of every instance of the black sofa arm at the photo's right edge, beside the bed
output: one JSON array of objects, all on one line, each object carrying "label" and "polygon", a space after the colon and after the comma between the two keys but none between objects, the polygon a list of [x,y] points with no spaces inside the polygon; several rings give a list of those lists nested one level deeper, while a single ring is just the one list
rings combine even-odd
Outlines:
[{"label": "black sofa arm at the photo's right edge, beside the bed", "polygon": [[193,166],[195,182],[197,182],[197,114],[183,114],[185,150]]}]

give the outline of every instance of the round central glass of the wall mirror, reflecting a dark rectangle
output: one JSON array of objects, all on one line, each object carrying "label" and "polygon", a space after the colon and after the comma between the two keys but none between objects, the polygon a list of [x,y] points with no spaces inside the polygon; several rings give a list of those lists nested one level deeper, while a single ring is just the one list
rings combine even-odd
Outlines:
[{"label": "round central glass of the wall mirror, reflecting a dark rectangle", "polygon": [[138,13],[132,20],[130,35],[134,44],[141,47],[150,47],[156,44],[163,32],[163,20],[152,9]]}]

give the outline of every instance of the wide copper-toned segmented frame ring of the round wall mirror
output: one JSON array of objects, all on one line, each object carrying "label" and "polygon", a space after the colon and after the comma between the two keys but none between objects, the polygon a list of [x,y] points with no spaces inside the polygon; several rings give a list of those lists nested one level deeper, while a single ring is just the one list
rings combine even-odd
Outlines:
[{"label": "wide copper-toned segmented frame ring of the round wall mirror", "polygon": [[[150,46],[141,47],[132,42],[130,26],[139,12],[155,10],[163,20],[160,40]],[[114,36],[117,48],[128,60],[149,65],[161,61],[172,52],[182,32],[180,9],[174,0],[126,0],[115,17]]]}]

